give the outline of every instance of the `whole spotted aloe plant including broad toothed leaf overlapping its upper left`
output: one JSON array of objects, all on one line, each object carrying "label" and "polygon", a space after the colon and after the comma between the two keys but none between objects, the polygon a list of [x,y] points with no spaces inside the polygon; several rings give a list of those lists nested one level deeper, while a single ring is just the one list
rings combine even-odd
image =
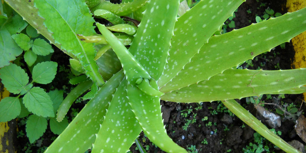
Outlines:
[{"label": "whole spotted aloe plant including broad toothed leaf overlapping its upper left", "polygon": [[[93,153],[127,152],[141,131],[162,150],[185,153],[166,133],[160,99],[184,103],[222,100],[235,115],[282,150],[299,152],[233,99],[303,93],[306,69],[264,71],[233,67],[304,32],[306,8],[214,35],[244,0],[203,0],[180,17],[179,0],[134,0],[122,4],[104,0],[4,1],[74,58],[72,67],[78,67],[94,82],[93,86],[99,86],[46,153],[83,153],[91,147]],[[29,14],[21,9],[24,7],[34,11]],[[95,23],[90,11],[118,26],[109,28]],[[141,22],[131,28],[134,23],[120,16]],[[102,35],[94,32],[94,23]],[[131,25],[120,28],[119,24]],[[133,30],[137,32],[131,37]],[[71,105],[71,99],[69,96],[64,103]],[[59,110],[65,113],[67,105],[61,106]],[[62,118],[63,114],[57,119]]]}]

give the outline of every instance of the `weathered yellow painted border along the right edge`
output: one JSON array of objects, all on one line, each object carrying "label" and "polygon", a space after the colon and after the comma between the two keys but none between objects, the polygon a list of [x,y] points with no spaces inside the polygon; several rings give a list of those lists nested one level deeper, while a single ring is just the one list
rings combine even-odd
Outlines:
[{"label": "weathered yellow painted border along the right edge", "polygon": [[[294,12],[306,7],[305,0],[287,0],[286,5],[288,12]],[[295,51],[292,68],[306,68],[306,32],[292,38],[292,45]],[[306,101],[306,92],[304,93],[304,100]]]}]

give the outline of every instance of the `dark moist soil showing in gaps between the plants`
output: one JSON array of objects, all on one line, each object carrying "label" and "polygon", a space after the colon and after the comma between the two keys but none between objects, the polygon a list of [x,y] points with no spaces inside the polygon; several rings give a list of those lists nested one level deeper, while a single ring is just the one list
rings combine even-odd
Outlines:
[{"label": "dark moist soil showing in gaps between the plants", "polygon": [[[117,1],[118,2],[118,1]],[[263,16],[265,9],[271,8],[275,12],[286,13],[287,10],[282,6],[285,4],[285,0],[247,0],[244,2],[235,13],[235,29],[243,28],[251,23],[256,23],[255,17]],[[251,13],[248,13],[247,10],[250,10]],[[250,22],[249,22],[250,21]],[[228,20],[228,22],[230,22]],[[229,32],[233,28],[227,28],[226,31]],[[243,64],[243,68],[248,67],[248,69],[258,69],[260,67],[264,70],[276,70],[276,69],[291,69],[291,60],[293,59],[294,51],[291,43],[285,44],[285,49],[281,47],[275,47],[263,55],[257,56],[252,60],[253,65]],[[55,50],[51,60],[58,62],[58,65],[62,68],[70,69],[69,57],[62,53],[60,50]],[[63,63],[64,62],[64,63]],[[279,63],[279,65],[277,65]],[[276,65],[276,66],[275,66]],[[52,88],[47,90],[54,90],[58,88],[60,90],[69,91],[73,86],[67,86],[69,77],[65,76],[65,70],[63,69],[62,73],[58,70],[55,80],[55,84],[52,84]],[[44,87],[46,88],[46,87]],[[300,108],[302,95],[285,95],[285,98],[281,98],[280,101],[284,103],[294,103],[297,108]],[[64,95],[65,97],[65,95]],[[270,103],[271,99],[265,99],[267,96],[263,96],[261,100],[265,100],[265,103]],[[272,97],[278,97],[278,95],[272,95]],[[238,99],[237,99],[238,100]],[[253,104],[247,104],[246,99],[240,99],[238,102],[245,106],[254,116],[256,116],[256,109]],[[81,110],[86,102],[74,103],[72,108]],[[162,112],[164,118],[164,124],[166,125],[168,135],[176,142],[178,145],[188,148],[194,146],[196,150],[188,149],[192,153],[196,152],[211,152],[211,153],[223,153],[227,151],[231,152],[243,152],[243,148],[249,145],[250,142],[254,143],[254,130],[251,129],[248,125],[245,125],[239,118],[236,116],[231,116],[231,113],[228,112],[225,106],[221,102],[203,102],[203,103],[174,103],[174,102],[165,102],[161,101]],[[265,108],[275,112],[275,108],[272,105],[265,105]],[[303,105],[301,110],[305,110],[305,105]],[[188,110],[190,112],[188,113]],[[73,111],[70,110],[68,114],[73,116]],[[185,115],[186,114],[186,115]],[[205,120],[205,118],[207,119]],[[72,117],[69,118],[70,121]],[[190,123],[189,126],[185,124],[190,120],[194,123]],[[211,122],[211,125],[209,125]],[[285,123],[285,124],[284,124]],[[298,140],[304,144],[303,141],[295,133],[293,126],[294,120],[283,120],[282,126],[276,128],[276,131],[282,132],[282,139],[285,141]],[[22,130],[25,133],[24,120],[19,120],[19,131]],[[185,126],[185,129],[184,129]],[[30,147],[33,152],[38,152],[41,148],[45,149],[46,146],[49,146],[54,138],[57,135],[54,135],[48,126],[47,131],[44,133],[43,137],[40,138],[34,145],[29,145],[28,138],[26,136],[19,137],[18,142],[18,151],[25,152]],[[140,134],[138,138],[142,146],[147,150],[148,153],[162,153],[158,147],[152,144],[149,139],[143,134]],[[207,144],[205,144],[207,142]],[[265,142],[265,144],[269,144]],[[133,144],[130,148],[131,152],[139,153],[139,150],[136,148],[136,144]],[[275,149],[273,146],[270,148],[270,151],[281,152]]]}]

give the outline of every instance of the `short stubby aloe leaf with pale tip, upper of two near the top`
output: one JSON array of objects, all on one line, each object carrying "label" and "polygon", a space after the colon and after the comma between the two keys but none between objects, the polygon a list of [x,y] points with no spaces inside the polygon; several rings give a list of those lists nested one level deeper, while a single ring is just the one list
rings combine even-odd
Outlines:
[{"label": "short stubby aloe leaf with pale tip, upper of two near the top", "polygon": [[102,17],[103,19],[110,21],[110,23],[112,24],[124,24],[125,23],[125,21],[121,17],[118,17],[114,13],[111,13],[110,11],[105,10],[105,9],[95,10],[94,15]]}]

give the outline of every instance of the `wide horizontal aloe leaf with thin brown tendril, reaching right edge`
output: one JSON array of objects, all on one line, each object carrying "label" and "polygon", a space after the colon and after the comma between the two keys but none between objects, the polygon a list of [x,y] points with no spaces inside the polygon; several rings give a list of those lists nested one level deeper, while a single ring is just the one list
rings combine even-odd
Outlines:
[{"label": "wide horizontal aloe leaf with thin brown tendril, reaching right edge", "polygon": [[209,80],[166,93],[161,98],[174,102],[204,102],[281,92],[306,84],[306,69],[248,70],[228,69]]}]

